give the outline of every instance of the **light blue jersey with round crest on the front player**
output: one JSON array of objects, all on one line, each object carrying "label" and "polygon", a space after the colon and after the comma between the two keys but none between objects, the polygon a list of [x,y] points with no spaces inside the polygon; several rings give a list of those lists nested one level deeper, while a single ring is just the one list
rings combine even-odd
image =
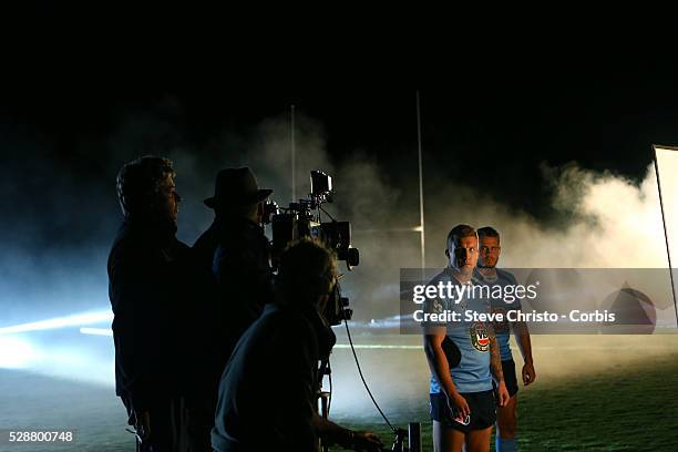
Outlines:
[{"label": "light blue jersey with round crest on the front player", "polygon": [[[438,285],[439,281],[452,281],[453,285],[461,285],[452,276],[449,269],[438,275],[430,285]],[[477,281],[476,281],[477,282]],[[446,323],[448,337],[454,342],[461,352],[459,366],[450,370],[452,381],[459,392],[481,392],[492,389],[492,374],[490,373],[490,336],[483,322],[466,321],[464,311],[474,310],[487,312],[490,306],[484,299],[463,297],[460,302],[451,299],[435,299],[431,301],[427,310],[441,312],[450,310],[459,312],[459,321]],[[442,389],[435,377],[431,376],[430,393],[440,393]]]}]

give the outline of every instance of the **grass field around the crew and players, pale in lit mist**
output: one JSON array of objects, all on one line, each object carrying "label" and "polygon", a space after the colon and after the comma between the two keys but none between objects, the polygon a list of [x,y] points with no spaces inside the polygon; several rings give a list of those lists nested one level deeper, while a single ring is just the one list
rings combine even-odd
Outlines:
[{"label": "grass field around the crew and players, pale in lit mist", "polygon": [[[388,345],[358,349],[364,376],[391,421],[421,422],[423,450],[432,450],[421,339],[356,339]],[[534,337],[533,343],[537,381],[518,393],[521,451],[678,451],[677,335]],[[338,348],[332,364],[331,418],[380,433],[390,448],[392,435],[371,405],[350,351]],[[133,451],[124,415],[110,386],[0,370],[0,430],[78,431],[71,448],[3,443],[0,451]]]}]

